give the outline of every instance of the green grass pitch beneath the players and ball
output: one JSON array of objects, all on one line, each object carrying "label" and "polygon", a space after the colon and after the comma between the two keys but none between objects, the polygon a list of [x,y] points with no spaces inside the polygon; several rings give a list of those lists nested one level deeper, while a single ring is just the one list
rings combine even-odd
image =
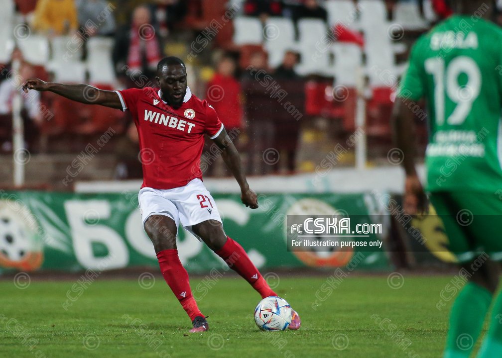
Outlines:
[{"label": "green grass pitch beneath the players and ball", "polygon": [[[330,292],[326,277],[283,277],[276,291],[302,327],[262,332],[252,315],[259,295],[228,275],[198,291],[210,325],[199,334],[188,334],[191,323],[162,276],[148,289],[138,279],[97,278],[82,289],[76,279],[33,279],[24,289],[3,280],[0,357],[438,357],[452,300],[442,310],[436,303],[451,278],[405,275],[393,289],[387,275],[353,276]],[[193,278],[192,289],[202,283]],[[316,292],[324,301],[314,310]]]}]

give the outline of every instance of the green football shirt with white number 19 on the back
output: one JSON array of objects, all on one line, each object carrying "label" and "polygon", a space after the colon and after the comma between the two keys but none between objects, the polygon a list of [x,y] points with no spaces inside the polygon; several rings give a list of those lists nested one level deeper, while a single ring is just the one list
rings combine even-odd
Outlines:
[{"label": "green football shirt with white number 19 on the back", "polygon": [[425,97],[428,190],[502,188],[502,30],[453,16],[418,39],[398,96],[414,112]]}]

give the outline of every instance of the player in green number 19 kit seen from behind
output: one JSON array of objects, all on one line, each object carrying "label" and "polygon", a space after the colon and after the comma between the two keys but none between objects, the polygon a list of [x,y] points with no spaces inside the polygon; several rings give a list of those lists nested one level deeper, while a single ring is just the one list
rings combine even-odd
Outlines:
[{"label": "player in green number 19 kit seen from behind", "polygon": [[494,297],[496,261],[502,260],[502,30],[487,20],[491,2],[453,3],[456,15],[414,45],[396,98],[393,122],[404,155],[404,208],[411,215],[425,209],[414,141],[416,101],[425,98],[427,191],[443,220],[449,249],[469,277],[451,309],[443,357],[469,357],[492,301],[478,358],[502,357],[502,294]]}]

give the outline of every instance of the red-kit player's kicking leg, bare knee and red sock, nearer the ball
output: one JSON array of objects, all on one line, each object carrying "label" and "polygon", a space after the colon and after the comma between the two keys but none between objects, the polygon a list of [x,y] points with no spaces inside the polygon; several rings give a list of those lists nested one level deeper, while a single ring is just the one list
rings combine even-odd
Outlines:
[{"label": "red-kit player's kicking leg, bare knee and red sock, nearer the ball", "polygon": [[236,241],[225,235],[223,226],[217,220],[206,220],[192,226],[195,235],[211,249],[216,255],[227,263],[228,267],[237,272],[244,280],[249,282],[263,298],[277,296],[249,256]]}]

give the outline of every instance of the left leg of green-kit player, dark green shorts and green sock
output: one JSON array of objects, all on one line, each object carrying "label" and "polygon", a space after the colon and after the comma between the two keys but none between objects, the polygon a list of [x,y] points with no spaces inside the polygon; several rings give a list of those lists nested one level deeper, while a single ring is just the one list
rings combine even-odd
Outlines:
[{"label": "left leg of green-kit player, dark green shorts and green sock", "polygon": [[[496,289],[498,272],[492,261],[475,251],[481,245],[479,234],[482,231],[476,232],[476,228],[479,230],[479,227],[466,225],[466,222],[468,223],[472,218],[461,212],[469,208],[469,212],[476,213],[479,208],[476,200],[468,198],[467,193],[459,196],[445,192],[433,193],[431,202],[443,221],[450,251],[462,263],[459,276],[468,280],[455,298],[450,311],[443,356],[444,358],[468,358],[481,332],[493,292]],[[476,216],[474,216],[474,223],[478,224]]]}]

